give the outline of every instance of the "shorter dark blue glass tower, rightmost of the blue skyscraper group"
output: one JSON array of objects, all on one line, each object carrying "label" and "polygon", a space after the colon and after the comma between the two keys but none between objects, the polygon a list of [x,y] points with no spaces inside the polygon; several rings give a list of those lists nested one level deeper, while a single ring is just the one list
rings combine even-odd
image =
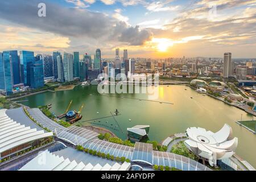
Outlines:
[{"label": "shorter dark blue glass tower, rightmost of the blue skyscraper group", "polygon": [[44,86],[44,67],[43,60],[35,61],[30,67],[30,81],[32,89],[38,89]]}]

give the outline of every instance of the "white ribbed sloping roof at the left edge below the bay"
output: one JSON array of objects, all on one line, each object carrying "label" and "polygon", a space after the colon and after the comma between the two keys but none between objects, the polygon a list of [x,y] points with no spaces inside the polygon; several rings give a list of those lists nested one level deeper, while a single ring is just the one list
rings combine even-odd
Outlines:
[{"label": "white ribbed sloping roof at the left edge below the bay", "polygon": [[6,111],[6,109],[0,110],[0,154],[21,144],[53,136],[52,132],[45,133],[43,129],[38,131],[31,129],[30,126],[20,125],[19,122],[9,118]]}]

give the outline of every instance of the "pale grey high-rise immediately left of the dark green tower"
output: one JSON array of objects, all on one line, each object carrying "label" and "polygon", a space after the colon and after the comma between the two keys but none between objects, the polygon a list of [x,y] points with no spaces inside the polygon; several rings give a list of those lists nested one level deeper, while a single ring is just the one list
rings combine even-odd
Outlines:
[{"label": "pale grey high-rise immediately left of the dark green tower", "polygon": [[73,55],[71,53],[64,52],[63,67],[65,82],[73,81]]}]

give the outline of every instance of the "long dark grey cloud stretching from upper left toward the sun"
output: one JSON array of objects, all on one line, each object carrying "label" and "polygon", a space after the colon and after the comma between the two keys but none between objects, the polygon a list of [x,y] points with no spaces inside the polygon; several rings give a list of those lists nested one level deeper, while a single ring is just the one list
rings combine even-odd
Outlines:
[{"label": "long dark grey cloud stretching from upper left toward the sun", "polygon": [[[38,16],[38,4],[41,2],[46,3],[46,17]],[[64,8],[48,1],[0,1],[0,18],[63,36],[107,41],[117,39],[131,45],[143,44],[151,35],[148,31],[138,31],[137,27],[128,27],[125,23],[102,13]],[[115,36],[112,35],[113,32]]]}]

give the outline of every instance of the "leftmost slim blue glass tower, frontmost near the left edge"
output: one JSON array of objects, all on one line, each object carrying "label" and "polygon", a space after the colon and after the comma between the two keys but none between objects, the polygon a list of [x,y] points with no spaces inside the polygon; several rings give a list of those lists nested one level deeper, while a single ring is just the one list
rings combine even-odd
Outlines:
[{"label": "leftmost slim blue glass tower, frontmost near the left edge", "polygon": [[[13,65],[11,63],[10,51],[3,51],[3,70],[5,82],[5,94],[13,94]],[[1,80],[2,81],[2,80]]]}]

